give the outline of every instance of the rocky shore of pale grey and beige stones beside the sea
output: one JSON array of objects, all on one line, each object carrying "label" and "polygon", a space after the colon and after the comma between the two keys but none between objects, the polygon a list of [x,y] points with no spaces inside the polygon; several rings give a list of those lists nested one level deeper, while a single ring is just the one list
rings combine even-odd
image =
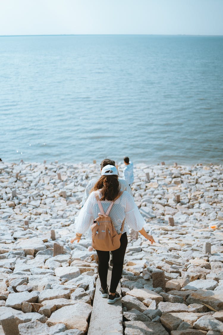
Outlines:
[{"label": "rocky shore of pale grey and beige stones beside the sea", "polygon": [[[88,235],[69,241],[99,173],[98,164],[0,162],[0,334],[87,334],[97,254]],[[128,237],[124,334],[223,334],[223,166],[136,164],[134,176],[156,243]]]}]

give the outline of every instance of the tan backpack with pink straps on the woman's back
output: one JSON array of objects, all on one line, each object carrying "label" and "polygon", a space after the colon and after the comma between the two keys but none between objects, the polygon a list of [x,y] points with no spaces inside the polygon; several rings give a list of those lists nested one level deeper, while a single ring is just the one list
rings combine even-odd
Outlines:
[{"label": "tan backpack with pink straps on the woman's back", "polygon": [[[115,198],[115,200],[118,199],[122,195],[122,193],[123,191],[119,193],[118,197]],[[121,232],[120,234],[118,234],[115,230],[110,216],[108,215],[115,200],[111,202],[105,213],[98,194],[95,194],[95,197],[101,212],[100,216],[94,219],[94,223],[91,225],[92,247],[100,251],[116,250],[120,247],[120,238],[124,228],[125,220],[123,220]]]}]

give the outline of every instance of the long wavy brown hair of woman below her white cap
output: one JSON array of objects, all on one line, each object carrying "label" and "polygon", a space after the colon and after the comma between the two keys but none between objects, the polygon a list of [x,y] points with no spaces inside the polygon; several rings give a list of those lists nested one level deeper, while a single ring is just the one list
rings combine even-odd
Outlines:
[{"label": "long wavy brown hair of woman below her white cap", "polygon": [[118,176],[101,176],[91,192],[97,190],[101,190],[101,200],[115,200],[120,192]]}]

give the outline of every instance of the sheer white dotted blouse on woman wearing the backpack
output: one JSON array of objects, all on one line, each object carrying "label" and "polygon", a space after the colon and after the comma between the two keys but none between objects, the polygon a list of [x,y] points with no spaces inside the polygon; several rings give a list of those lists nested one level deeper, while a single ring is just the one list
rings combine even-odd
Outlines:
[{"label": "sheer white dotted blouse on woman wearing the backpack", "polygon": [[[92,220],[98,217],[98,213],[100,212],[97,200],[95,198],[95,193],[98,193],[99,198],[101,198],[100,191],[92,192],[80,210],[78,217],[75,219],[75,230],[80,234],[83,234],[88,230],[90,225],[93,223]],[[104,212],[106,212],[110,203],[111,201],[109,200],[101,201]],[[146,224],[132,196],[126,191],[124,191],[122,195],[117,200],[115,200],[109,216],[111,217],[112,223],[114,224],[118,234],[120,233],[124,219],[125,223],[122,233],[128,233],[128,226],[134,230],[139,231],[142,229],[143,225]],[[128,226],[126,222],[128,223]]]}]

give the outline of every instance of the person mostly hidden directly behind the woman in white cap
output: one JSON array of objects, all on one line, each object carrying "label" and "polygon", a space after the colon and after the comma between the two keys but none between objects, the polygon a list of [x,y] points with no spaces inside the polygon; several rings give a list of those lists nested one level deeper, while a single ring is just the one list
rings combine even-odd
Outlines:
[{"label": "person mostly hidden directly behind the woman in white cap", "polygon": [[[114,165],[115,166],[115,161],[109,158],[103,159],[100,166],[101,166],[101,170],[103,169],[104,166],[106,165]],[[98,180],[100,179],[100,176],[98,176],[97,178],[91,179],[85,189],[84,192],[84,197],[82,200],[82,205],[84,206],[85,202],[87,201],[89,194],[91,193],[91,189],[95,186],[95,184],[98,182]],[[120,191],[127,191],[132,197],[132,191],[131,188],[129,187],[128,183],[123,179],[118,177],[118,181],[120,183]]]}]

